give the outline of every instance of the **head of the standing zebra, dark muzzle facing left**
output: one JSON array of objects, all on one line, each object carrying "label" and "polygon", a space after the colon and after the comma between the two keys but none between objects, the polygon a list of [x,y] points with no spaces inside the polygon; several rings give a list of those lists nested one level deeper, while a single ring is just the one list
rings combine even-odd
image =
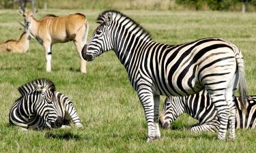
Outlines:
[{"label": "head of the standing zebra, dark muzzle facing left", "polygon": [[82,56],[86,61],[92,61],[96,56],[113,49],[110,32],[112,22],[113,14],[111,12],[103,12],[98,16],[98,23],[100,25],[82,50]]}]

